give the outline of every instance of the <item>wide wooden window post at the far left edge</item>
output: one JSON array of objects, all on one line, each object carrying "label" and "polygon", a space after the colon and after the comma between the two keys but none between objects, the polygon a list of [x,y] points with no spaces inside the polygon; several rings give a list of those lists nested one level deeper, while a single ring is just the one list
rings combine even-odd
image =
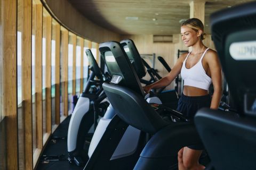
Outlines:
[{"label": "wide wooden window post at the far left edge", "polygon": [[[7,168],[18,169],[17,1],[3,3],[3,114],[6,116]],[[1,6],[2,7],[2,6]],[[12,9],[12,12],[10,12]],[[2,24],[1,24],[2,25]]]}]

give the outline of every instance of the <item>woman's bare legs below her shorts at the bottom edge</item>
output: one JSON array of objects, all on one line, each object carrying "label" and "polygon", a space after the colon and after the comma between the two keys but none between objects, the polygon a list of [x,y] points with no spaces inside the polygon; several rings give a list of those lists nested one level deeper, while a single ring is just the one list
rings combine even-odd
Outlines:
[{"label": "woman's bare legs below her shorts at the bottom edge", "polygon": [[181,148],[178,152],[179,170],[201,170],[205,167],[198,160],[202,150],[194,150],[188,147]]}]

